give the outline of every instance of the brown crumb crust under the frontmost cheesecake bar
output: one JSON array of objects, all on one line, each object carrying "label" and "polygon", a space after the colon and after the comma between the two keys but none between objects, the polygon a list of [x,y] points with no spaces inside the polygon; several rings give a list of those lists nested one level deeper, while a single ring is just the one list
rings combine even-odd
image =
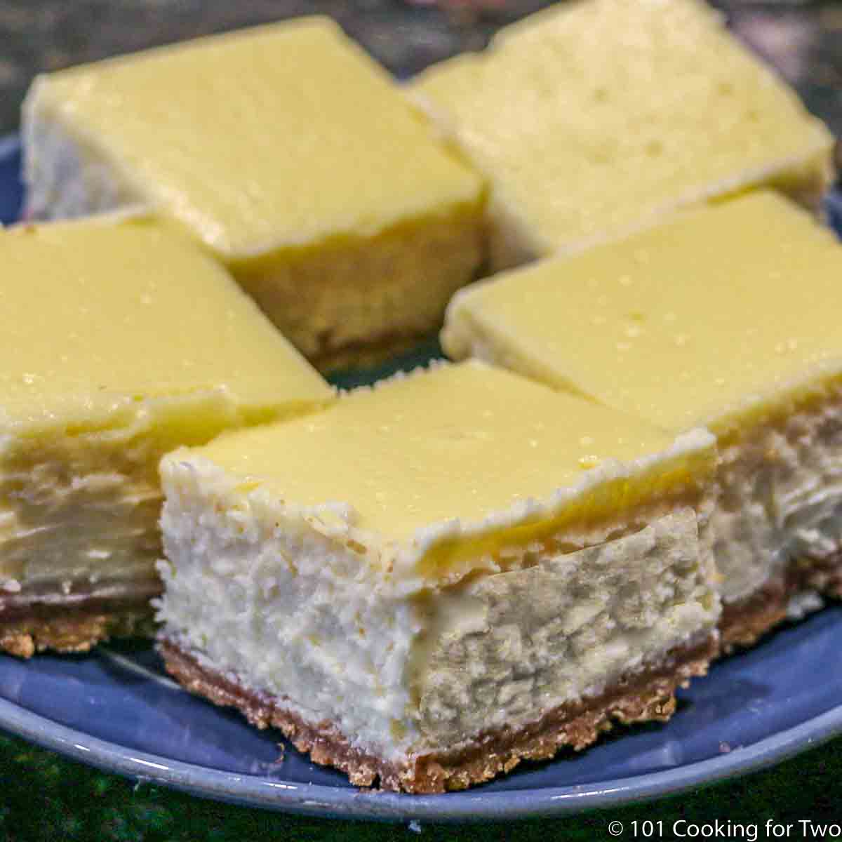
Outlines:
[{"label": "brown crumb crust under the frontmost cheesecake bar", "polygon": [[514,769],[521,760],[549,759],[564,747],[584,749],[614,722],[666,722],[675,710],[675,690],[704,675],[718,651],[718,636],[668,653],[658,666],[629,675],[600,696],[547,711],[536,722],[477,734],[470,743],[387,762],[354,748],[332,722],[313,725],[285,710],[283,701],[248,690],[199,663],[166,638],[158,650],[169,674],[187,690],[215,705],[236,707],[258,728],[277,727],[314,763],[344,771],[356,786],[437,793],[465,789]]}]

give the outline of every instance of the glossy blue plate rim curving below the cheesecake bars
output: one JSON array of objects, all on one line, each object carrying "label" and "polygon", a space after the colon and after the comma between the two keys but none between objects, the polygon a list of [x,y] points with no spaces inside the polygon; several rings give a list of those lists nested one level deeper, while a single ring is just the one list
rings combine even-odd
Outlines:
[{"label": "glossy blue plate rim curving below the cheesecake bars", "polygon": [[[17,134],[0,136],[0,161],[20,150]],[[829,196],[829,204],[842,210],[838,193]],[[570,815],[621,807],[748,775],[842,733],[842,704],[749,746],[669,770],[569,786],[506,791],[482,791],[480,787],[429,796],[273,781],[260,775],[186,763],[93,737],[2,698],[0,727],[77,762],[198,797],[321,818],[464,822]]]}]

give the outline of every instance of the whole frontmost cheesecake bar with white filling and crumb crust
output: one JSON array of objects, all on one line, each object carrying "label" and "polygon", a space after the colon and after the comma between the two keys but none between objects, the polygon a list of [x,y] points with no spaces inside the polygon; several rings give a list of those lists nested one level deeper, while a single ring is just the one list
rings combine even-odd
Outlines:
[{"label": "whole frontmost cheesecake bar with white filling and crumb crust", "polygon": [[713,437],[479,362],[165,456],[167,669],[358,785],[667,719],[717,648]]}]

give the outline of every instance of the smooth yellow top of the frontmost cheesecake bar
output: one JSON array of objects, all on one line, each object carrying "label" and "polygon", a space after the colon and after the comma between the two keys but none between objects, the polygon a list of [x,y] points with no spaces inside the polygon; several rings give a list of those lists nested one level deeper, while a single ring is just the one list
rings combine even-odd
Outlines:
[{"label": "smooth yellow top of the frontmost cheesecake bar", "polygon": [[[349,504],[356,527],[403,540],[457,518],[490,519],[491,529],[494,515],[519,502],[546,503],[609,460],[654,456],[672,443],[635,418],[472,361],[350,392],[322,413],[187,452],[287,504]],[[652,473],[641,468],[640,484],[657,485]],[[608,473],[599,477],[610,484]],[[601,504],[621,508],[634,482],[616,483]]]}]

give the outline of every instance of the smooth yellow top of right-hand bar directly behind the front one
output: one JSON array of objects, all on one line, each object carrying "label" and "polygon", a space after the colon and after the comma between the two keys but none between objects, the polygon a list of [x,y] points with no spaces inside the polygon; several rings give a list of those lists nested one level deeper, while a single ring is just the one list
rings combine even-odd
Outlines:
[{"label": "smooth yellow top of right-hand bar directly behind the front one", "polygon": [[759,192],[476,285],[443,342],[668,429],[722,431],[842,371],[842,245]]}]

